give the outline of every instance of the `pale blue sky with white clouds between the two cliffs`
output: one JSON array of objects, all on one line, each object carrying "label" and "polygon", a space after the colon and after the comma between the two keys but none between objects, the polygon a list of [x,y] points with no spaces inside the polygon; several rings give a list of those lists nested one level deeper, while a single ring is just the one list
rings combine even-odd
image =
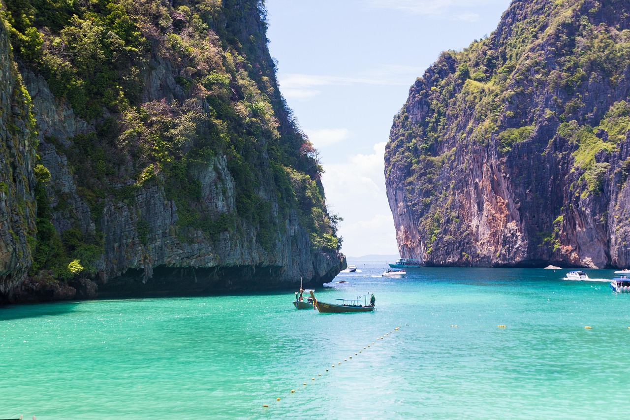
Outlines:
[{"label": "pale blue sky with white clouds between the two cliffs", "polygon": [[444,50],[495,30],[509,0],[266,0],[280,91],[318,149],[341,252],[398,254],[385,144],[409,88]]}]

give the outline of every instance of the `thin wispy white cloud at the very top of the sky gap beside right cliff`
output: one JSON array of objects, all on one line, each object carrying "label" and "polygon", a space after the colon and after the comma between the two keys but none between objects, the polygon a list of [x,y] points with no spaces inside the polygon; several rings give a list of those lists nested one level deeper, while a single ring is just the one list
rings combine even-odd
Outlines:
[{"label": "thin wispy white cloud at the very top of the sky gap beside right cliff", "polygon": [[479,21],[481,16],[476,13],[476,8],[504,3],[503,0],[367,0],[367,5],[375,9],[461,21]]}]

